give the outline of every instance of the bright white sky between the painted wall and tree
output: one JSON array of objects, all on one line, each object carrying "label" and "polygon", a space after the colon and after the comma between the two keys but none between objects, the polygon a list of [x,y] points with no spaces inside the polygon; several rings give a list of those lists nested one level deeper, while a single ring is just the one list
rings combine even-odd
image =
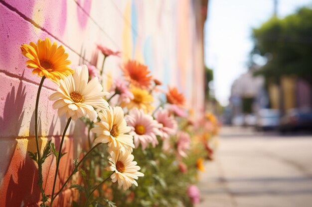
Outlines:
[{"label": "bright white sky between the painted wall and tree", "polygon": [[[278,17],[294,13],[312,0],[278,0]],[[231,85],[247,71],[253,48],[252,28],[259,27],[274,11],[274,0],[209,0],[205,22],[205,64],[213,69],[215,97],[226,106]]]}]

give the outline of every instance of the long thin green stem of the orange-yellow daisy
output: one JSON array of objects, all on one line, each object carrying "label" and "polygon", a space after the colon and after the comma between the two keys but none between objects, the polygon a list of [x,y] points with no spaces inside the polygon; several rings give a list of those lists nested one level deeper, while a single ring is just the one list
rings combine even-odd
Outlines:
[{"label": "long thin green stem of the orange-yellow daisy", "polygon": [[[45,76],[42,76],[39,88],[38,88],[38,93],[37,93],[37,98],[36,98],[36,106],[35,106],[35,138],[36,138],[36,147],[37,147],[37,163],[38,163],[38,174],[39,174],[39,180],[38,184],[40,186],[42,198],[45,197],[44,190],[43,190],[43,180],[42,180],[42,162],[41,162],[41,156],[40,156],[40,149],[39,149],[39,139],[38,139],[38,105],[39,105],[39,97],[40,97],[40,92],[41,88],[44,82]],[[45,207],[45,202],[43,202],[43,206]]]}]

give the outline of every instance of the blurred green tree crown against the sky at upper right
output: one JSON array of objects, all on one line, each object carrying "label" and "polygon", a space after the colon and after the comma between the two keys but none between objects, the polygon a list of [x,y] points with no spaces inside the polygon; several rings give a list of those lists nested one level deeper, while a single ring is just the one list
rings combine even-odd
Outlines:
[{"label": "blurred green tree crown against the sky at upper right", "polygon": [[253,54],[268,57],[256,74],[278,80],[297,75],[312,83],[312,9],[303,7],[283,19],[272,17],[253,29]]}]

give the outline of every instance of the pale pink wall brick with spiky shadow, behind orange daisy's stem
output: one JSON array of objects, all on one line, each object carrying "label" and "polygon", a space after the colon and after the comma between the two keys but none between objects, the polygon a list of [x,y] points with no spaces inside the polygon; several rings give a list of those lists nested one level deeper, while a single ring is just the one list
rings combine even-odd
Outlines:
[{"label": "pale pink wall brick with spiky shadow, behind orange daisy's stem", "polygon": [[[47,82],[50,80],[46,80]],[[0,137],[34,136],[34,109],[38,86],[0,72]],[[54,91],[43,87],[39,101],[39,135],[62,135],[65,117],[59,118],[48,100]],[[73,126],[72,126],[73,127]],[[68,131],[67,134],[69,134]]]}]

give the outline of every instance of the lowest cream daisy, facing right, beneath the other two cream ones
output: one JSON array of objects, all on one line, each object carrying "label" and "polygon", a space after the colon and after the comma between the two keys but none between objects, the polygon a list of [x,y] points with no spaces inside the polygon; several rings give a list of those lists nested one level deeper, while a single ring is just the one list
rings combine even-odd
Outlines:
[{"label": "lowest cream daisy, facing right, beneath the other two cream ones", "polygon": [[112,182],[118,181],[119,186],[123,186],[124,190],[129,189],[132,184],[138,186],[135,179],[138,177],[143,177],[144,174],[139,172],[141,169],[134,160],[134,156],[128,153],[120,153],[117,151],[110,151],[110,156],[108,157],[110,167],[109,170],[115,171],[112,175]]}]

